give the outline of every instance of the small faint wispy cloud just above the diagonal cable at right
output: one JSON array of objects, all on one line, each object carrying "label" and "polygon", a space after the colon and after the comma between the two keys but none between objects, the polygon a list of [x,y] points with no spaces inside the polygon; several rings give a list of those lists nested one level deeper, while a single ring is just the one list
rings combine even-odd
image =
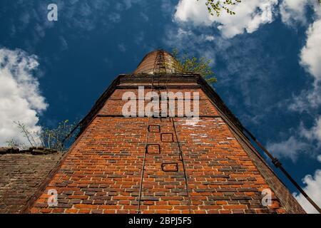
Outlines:
[{"label": "small faint wispy cloud just above the diagonal cable at right", "polygon": [[300,142],[293,136],[282,142],[267,143],[267,150],[272,152],[273,155],[279,158],[290,158],[293,162],[297,160],[300,153],[305,152],[306,148],[305,142]]}]

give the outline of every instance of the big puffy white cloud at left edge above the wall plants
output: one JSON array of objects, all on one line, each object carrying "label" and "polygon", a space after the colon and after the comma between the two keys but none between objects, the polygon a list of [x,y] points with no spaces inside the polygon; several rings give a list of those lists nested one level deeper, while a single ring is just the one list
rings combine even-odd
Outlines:
[{"label": "big puffy white cloud at left edge above the wall plants", "polygon": [[0,49],[0,145],[11,139],[26,142],[13,121],[21,121],[31,132],[41,130],[37,113],[46,110],[47,104],[33,76],[38,66],[34,55]]}]

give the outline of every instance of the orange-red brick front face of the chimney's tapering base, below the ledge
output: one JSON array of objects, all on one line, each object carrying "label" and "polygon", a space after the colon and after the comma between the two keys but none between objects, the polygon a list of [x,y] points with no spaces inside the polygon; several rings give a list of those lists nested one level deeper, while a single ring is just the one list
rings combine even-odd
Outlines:
[{"label": "orange-red brick front face of the chimney's tapering base, below the ledge", "polygon": [[[201,88],[168,90],[200,92],[204,116],[198,123],[187,118],[118,116],[122,94],[136,93],[136,88],[117,88],[88,122],[31,212],[136,213],[146,145],[142,213],[302,212],[266,164],[243,145],[223,118],[216,117],[218,110]],[[148,125],[153,126],[149,133]],[[57,207],[46,204],[49,189],[58,191]],[[261,203],[263,189],[272,189],[270,207]]]}]

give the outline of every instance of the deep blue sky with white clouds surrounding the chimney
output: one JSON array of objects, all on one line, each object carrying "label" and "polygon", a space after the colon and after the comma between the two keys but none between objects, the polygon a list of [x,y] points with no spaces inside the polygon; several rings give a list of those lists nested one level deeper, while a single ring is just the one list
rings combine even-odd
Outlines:
[{"label": "deep blue sky with white clouds surrounding the chimney", "polygon": [[[58,21],[47,20],[51,3]],[[0,145],[24,140],[13,120],[31,130],[80,120],[146,53],[178,48],[212,60],[228,107],[321,204],[320,5],[243,0],[234,11],[209,16],[202,0],[2,0]]]}]

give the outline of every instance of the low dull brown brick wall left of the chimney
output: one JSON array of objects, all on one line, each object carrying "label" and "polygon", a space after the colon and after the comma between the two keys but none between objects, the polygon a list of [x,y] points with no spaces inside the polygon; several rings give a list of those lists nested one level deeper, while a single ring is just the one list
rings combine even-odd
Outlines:
[{"label": "low dull brown brick wall left of the chimney", "polygon": [[61,153],[0,155],[0,213],[21,213],[61,157]]}]

